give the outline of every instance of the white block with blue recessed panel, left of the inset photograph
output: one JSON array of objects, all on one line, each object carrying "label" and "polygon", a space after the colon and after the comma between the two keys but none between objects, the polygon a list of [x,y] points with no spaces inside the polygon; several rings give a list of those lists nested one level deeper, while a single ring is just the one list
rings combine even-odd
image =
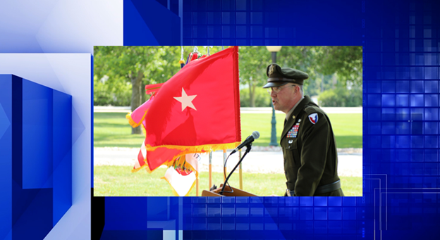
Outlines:
[{"label": "white block with blue recessed panel, left of the inset photograph", "polygon": [[89,239],[90,54],[1,53],[0,74],[0,239]]}]

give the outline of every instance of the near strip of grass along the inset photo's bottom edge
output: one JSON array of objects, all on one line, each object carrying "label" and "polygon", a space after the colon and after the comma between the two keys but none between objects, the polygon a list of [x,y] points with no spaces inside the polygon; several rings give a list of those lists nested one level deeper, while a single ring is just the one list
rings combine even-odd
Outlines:
[{"label": "near strip of grass along the inset photo's bottom edge", "polygon": [[[130,172],[131,166],[94,166],[94,196],[173,196],[171,187],[164,179],[166,168]],[[221,172],[212,173],[212,183],[219,186],[224,182]],[[207,190],[208,172],[200,172],[200,195]],[[238,171],[229,179],[232,187],[238,188]],[[341,177],[346,196],[362,196],[362,177]],[[243,173],[243,190],[257,196],[276,194],[283,196],[286,177],[283,174]],[[195,188],[190,196],[195,196]]]}]

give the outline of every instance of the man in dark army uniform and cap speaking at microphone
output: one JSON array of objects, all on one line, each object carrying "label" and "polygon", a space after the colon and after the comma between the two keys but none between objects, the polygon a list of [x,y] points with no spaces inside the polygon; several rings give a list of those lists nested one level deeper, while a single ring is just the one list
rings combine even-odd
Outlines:
[{"label": "man in dark army uniform and cap speaking at microphone", "polygon": [[284,196],[344,196],[329,117],[302,91],[309,75],[272,63],[267,77],[263,88],[275,110],[286,113],[280,141],[287,179]]}]

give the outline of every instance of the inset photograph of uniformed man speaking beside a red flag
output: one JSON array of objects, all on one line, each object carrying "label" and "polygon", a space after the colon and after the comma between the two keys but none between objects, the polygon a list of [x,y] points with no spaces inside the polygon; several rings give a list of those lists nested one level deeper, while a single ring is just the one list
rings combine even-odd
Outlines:
[{"label": "inset photograph of uniformed man speaking beside a red flag", "polygon": [[362,196],[362,46],[94,46],[94,196]]}]

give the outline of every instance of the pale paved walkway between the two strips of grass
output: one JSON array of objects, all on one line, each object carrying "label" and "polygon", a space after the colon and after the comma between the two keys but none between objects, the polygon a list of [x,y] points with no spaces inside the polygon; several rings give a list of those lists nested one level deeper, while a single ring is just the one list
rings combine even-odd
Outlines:
[{"label": "pale paved walkway between the two strips of grass", "polygon": [[[229,154],[231,151],[228,151]],[[130,148],[94,148],[94,165],[135,164],[139,149]],[[238,163],[238,153],[233,154],[227,163],[230,171]],[[208,171],[209,156],[202,154],[199,170]],[[223,151],[212,154],[212,170],[223,172]],[[165,168],[165,167],[161,167]],[[252,147],[252,151],[243,160],[243,172],[262,172],[283,174],[283,153],[278,148]],[[362,177],[362,149],[338,149],[338,175]]]}]

